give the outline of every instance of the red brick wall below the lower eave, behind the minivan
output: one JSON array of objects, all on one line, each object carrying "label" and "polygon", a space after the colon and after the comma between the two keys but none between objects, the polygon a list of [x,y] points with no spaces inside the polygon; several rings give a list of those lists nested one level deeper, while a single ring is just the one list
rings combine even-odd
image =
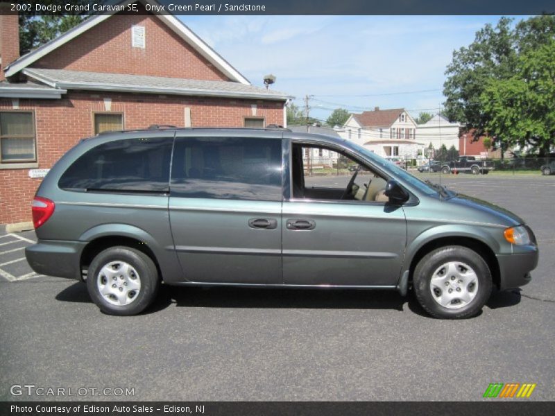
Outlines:
[{"label": "red brick wall below the lower eave, behind the minivan", "polygon": [[[21,110],[35,112],[39,168],[50,168],[79,139],[93,134],[92,114],[105,111],[104,98],[112,99],[111,111],[124,113],[126,129],[184,125],[185,107],[191,108],[194,127],[241,127],[253,104],[266,124],[283,123],[283,103],[272,101],[87,92],[62,100],[20,100]],[[12,101],[0,100],[0,110],[12,110]],[[0,170],[0,224],[31,220],[31,200],[40,181],[28,177],[28,169]]]}]

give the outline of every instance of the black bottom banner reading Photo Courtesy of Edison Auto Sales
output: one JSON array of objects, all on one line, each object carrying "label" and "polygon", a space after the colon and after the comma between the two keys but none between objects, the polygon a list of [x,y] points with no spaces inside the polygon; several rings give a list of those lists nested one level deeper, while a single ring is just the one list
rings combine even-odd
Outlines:
[{"label": "black bottom banner reading Photo Courtesy of Edison Auto Sales", "polygon": [[553,401],[3,401],[2,416],[555,415]]}]

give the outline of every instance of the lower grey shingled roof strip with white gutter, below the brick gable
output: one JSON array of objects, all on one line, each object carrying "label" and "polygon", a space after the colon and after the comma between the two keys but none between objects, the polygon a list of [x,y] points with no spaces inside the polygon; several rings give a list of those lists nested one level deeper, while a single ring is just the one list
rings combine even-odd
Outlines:
[{"label": "lower grey shingled roof strip with white gutter, below the brick gable", "polygon": [[128,75],[69,71],[67,69],[27,68],[23,73],[41,83],[58,89],[86,89],[121,92],[146,92],[191,96],[225,96],[285,101],[291,96],[272,89],[230,81],[189,80],[162,76]]}]

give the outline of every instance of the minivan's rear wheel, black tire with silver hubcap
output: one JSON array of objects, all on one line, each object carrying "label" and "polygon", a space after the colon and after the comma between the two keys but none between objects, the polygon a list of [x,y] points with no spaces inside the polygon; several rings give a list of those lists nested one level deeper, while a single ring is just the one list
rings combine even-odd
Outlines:
[{"label": "minivan's rear wheel, black tire with silver hubcap", "polygon": [[154,300],[158,286],[152,259],[128,247],[103,250],[94,257],[87,272],[91,299],[109,315],[141,313]]}]

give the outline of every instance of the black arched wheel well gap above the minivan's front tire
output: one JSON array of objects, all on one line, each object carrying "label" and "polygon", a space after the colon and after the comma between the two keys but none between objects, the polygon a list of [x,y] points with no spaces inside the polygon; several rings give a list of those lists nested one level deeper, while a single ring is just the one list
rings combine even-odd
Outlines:
[{"label": "black arched wheel well gap above the minivan's front tire", "polygon": [[477,252],[488,264],[491,272],[491,277],[493,279],[493,284],[497,286],[497,288],[499,288],[499,284],[501,283],[499,263],[497,263],[497,258],[495,257],[495,254],[489,248],[489,246],[479,240],[457,236],[443,237],[442,239],[429,241],[425,245],[422,245],[422,247],[418,249],[418,252],[416,252],[416,254],[414,254],[412,258],[411,268],[409,269],[409,281],[412,281],[414,269],[416,268],[416,265],[422,259],[422,257],[424,257],[432,250],[436,250],[436,248],[445,247],[447,245],[461,245],[462,247],[470,248],[470,250]]}]

